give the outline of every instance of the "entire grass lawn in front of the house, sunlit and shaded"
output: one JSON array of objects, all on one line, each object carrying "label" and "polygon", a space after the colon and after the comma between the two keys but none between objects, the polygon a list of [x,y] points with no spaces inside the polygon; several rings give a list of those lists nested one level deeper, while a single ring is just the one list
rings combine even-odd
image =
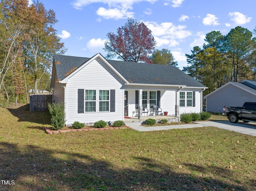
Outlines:
[{"label": "entire grass lawn in front of the house, sunlit and shaded", "polygon": [[214,127],[48,135],[48,112],[0,113],[0,180],[15,181],[0,190],[256,190],[254,136]]}]

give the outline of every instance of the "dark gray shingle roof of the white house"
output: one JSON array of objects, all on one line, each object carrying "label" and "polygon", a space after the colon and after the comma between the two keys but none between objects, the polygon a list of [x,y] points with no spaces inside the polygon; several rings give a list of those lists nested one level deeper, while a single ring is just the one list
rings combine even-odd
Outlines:
[{"label": "dark gray shingle roof of the white house", "polygon": [[[57,77],[62,80],[67,73],[90,58],[54,55]],[[130,83],[205,86],[175,66],[107,60]],[[59,64],[58,64],[59,63]]]}]

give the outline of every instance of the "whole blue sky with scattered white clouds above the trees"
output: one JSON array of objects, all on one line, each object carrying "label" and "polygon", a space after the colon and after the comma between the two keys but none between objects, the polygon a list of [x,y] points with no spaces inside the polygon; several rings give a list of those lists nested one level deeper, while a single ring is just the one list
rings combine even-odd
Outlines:
[{"label": "whole blue sky with scattered white clouds above the trees", "polygon": [[156,49],[169,49],[178,67],[187,65],[186,55],[205,43],[214,30],[226,35],[241,26],[256,27],[255,0],[39,0],[54,10],[54,28],[68,49],[65,55],[106,56],[102,49],[107,33],[117,32],[127,18],[143,22],[156,40]]}]

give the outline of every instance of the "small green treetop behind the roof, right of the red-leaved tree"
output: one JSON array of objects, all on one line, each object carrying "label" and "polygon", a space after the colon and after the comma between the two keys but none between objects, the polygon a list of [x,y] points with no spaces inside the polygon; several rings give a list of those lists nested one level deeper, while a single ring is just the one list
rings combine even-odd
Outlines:
[{"label": "small green treetop behind the roof, right of the red-leaved tree", "polygon": [[169,49],[154,50],[151,59],[153,64],[178,66]]}]

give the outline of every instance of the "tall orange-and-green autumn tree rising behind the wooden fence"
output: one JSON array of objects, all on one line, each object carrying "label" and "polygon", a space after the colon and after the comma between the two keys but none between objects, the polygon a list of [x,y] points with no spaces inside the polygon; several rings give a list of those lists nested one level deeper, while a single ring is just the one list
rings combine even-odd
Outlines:
[{"label": "tall orange-and-green autumn tree rising behind the wooden fence", "polygon": [[27,67],[34,75],[35,94],[37,94],[38,81],[50,71],[53,55],[63,54],[66,49],[64,43],[60,43],[60,37],[53,28],[57,22],[53,10],[47,11],[39,2],[32,4],[31,9],[33,14],[28,19],[29,39],[24,42],[24,57]]}]

